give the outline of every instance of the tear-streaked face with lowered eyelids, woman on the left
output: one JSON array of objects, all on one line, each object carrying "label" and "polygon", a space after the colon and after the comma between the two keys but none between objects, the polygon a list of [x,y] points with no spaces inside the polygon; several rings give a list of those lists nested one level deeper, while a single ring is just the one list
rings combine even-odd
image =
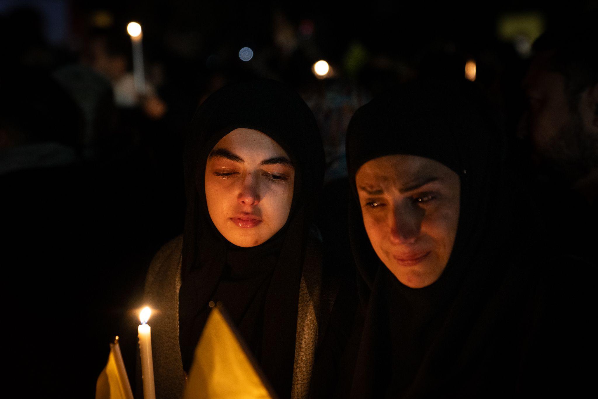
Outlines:
[{"label": "tear-streaked face with lowered eyelids, woman on the left", "polygon": [[288,154],[258,130],[235,129],[206,163],[208,212],[216,229],[237,246],[260,245],[286,223],[295,169]]}]

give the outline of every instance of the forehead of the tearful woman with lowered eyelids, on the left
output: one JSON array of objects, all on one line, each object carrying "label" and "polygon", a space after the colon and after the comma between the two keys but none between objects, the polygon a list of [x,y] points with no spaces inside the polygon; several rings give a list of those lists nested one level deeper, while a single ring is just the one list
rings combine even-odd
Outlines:
[{"label": "forehead of the tearful woman with lowered eyelids, on the left", "polygon": [[259,130],[246,129],[245,127],[234,129],[221,138],[213,149],[216,148],[225,148],[241,157],[251,154],[269,157],[287,156],[285,150],[270,136]]}]

